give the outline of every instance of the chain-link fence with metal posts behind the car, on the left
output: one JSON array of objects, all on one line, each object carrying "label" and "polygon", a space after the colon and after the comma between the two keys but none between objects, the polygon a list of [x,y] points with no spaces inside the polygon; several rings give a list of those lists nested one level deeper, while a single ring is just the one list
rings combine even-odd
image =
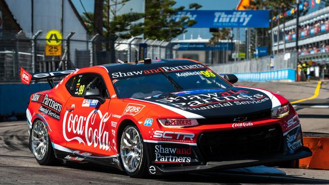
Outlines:
[{"label": "chain-link fence with metal posts behind the car, on the left", "polygon": [[[135,61],[136,57],[174,58],[177,50],[174,44],[163,40],[132,37],[111,42],[98,34],[88,40],[77,40],[71,39],[72,32],[60,39],[60,56],[46,56],[46,39],[39,38],[40,33],[28,37],[20,31],[0,38],[0,82],[19,81],[20,67],[30,73],[56,71],[116,63],[116,58],[128,62]],[[115,53],[110,50],[111,43],[114,43]],[[140,53],[140,44],[143,44],[144,54]]]}]

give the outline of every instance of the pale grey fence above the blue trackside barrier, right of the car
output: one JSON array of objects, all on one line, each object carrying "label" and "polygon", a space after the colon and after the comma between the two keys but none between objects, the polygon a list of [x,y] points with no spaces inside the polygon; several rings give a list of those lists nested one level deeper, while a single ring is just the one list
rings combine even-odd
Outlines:
[{"label": "pale grey fence above the blue trackside barrier, right of the car", "polygon": [[285,59],[284,55],[283,53],[274,55],[273,67],[270,66],[269,57],[261,57],[249,61],[214,65],[211,68],[218,73],[253,73],[280,69],[296,69],[297,53],[290,53],[290,58],[286,56]]}]

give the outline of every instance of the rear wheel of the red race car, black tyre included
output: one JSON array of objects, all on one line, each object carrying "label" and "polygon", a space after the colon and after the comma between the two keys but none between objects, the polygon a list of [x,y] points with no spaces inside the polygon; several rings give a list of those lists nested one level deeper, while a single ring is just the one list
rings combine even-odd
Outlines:
[{"label": "rear wheel of the red race car, black tyre included", "polygon": [[36,161],[40,165],[52,165],[55,162],[54,150],[43,121],[37,120],[31,129],[31,148]]}]

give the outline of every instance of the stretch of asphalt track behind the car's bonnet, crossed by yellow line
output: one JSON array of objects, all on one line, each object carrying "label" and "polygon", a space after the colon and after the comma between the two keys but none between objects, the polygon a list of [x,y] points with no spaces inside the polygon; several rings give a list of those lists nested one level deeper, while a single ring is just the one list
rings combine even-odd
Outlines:
[{"label": "stretch of asphalt track behind the car's bonnet, crossed by yellow line", "polygon": [[[276,92],[295,102],[314,95],[317,81],[310,82],[238,82],[237,85],[253,86]],[[304,132],[329,133],[329,81],[323,81],[319,95],[312,99],[293,104],[301,120]]]}]

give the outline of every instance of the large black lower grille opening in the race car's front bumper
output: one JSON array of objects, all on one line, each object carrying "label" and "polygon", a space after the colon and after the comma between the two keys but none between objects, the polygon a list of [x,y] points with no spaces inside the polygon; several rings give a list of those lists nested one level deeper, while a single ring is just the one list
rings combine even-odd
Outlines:
[{"label": "large black lower grille opening in the race car's front bumper", "polygon": [[205,132],[198,146],[207,161],[222,161],[257,157],[281,150],[280,125],[236,128],[234,130]]}]

